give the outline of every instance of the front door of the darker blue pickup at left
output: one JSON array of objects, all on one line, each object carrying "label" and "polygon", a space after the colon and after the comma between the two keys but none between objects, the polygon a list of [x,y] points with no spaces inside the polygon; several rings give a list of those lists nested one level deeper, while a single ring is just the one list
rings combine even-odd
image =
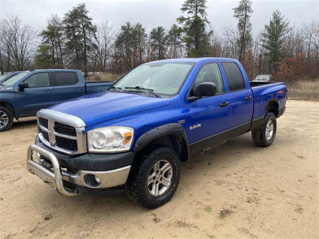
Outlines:
[{"label": "front door of the darker blue pickup at left", "polygon": [[15,97],[19,106],[18,115],[34,115],[38,110],[55,104],[54,87],[51,72],[35,72],[24,81],[29,88],[19,90],[15,86]]}]

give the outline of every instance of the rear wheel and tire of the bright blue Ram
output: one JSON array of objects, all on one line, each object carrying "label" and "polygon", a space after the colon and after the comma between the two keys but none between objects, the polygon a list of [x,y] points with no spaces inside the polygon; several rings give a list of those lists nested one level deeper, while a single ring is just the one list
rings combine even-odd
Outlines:
[{"label": "rear wheel and tire of the bright blue Ram", "polygon": [[274,113],[266,115],[264,123],[251,131],[251,136],[257,146],[268,147],[270,146],[276,136],[277,120]]}]

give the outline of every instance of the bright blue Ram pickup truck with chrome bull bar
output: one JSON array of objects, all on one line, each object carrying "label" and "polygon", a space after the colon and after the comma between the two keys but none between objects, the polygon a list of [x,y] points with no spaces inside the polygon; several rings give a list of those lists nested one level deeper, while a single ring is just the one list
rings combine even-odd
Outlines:
[{"label": "bright blue Ram pickup truck with chrome bull bar", "polygon": [[107,92],[40,110],[27,170],[65,196],[125,189],[153,209],[173,196],[190,157],[249,131],[271,145],[286,96],[284,83],[249,83],[234,59],[146,63]]}]

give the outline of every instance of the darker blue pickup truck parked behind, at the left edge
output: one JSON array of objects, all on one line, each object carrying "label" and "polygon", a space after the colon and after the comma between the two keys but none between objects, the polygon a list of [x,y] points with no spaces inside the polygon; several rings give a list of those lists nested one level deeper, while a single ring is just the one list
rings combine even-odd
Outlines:
[{"label": "darker blue pickup truck parked behind, at the left edge", "polygon": [[0,132],[13,118],[35,116],[43,108],[79,96],[106,91],[113,82],[84,81],[80,70],[30,70],[10,73],[0,81]]}]

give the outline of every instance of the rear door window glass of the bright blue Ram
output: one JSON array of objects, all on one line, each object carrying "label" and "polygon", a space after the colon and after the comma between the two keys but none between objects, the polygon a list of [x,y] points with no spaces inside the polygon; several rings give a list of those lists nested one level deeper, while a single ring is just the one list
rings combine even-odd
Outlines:
[{"label": "rear door window glass of the bright blue Ram", "polygon": [[230,91],[245,89],[245,82],[239,67],[234,62],[222,62]]}]

